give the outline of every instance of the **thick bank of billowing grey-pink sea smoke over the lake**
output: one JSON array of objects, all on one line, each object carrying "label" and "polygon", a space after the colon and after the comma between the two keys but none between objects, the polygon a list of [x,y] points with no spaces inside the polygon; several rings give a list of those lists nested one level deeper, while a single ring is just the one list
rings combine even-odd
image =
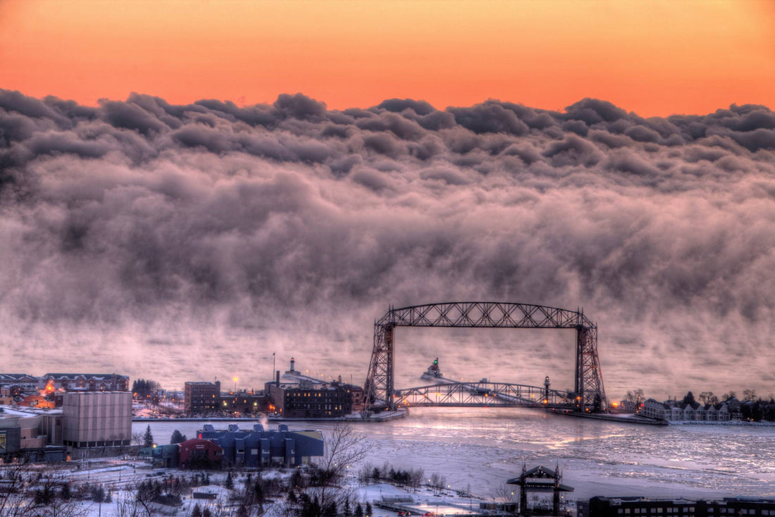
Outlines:
[{"label": "thick bank of billowing grey-pink sea smoke over the lake", "polygon": [[[595,99],[92,108],[0,91],[6,371],[258,388],[277,351],[362,381],[388,304],[492,300],[584,307],[614,398],[768,395],[773,222],[763,106],[642,119]],[[440,356],[572,383],[560,331],[399,332],[406,382]]]}]

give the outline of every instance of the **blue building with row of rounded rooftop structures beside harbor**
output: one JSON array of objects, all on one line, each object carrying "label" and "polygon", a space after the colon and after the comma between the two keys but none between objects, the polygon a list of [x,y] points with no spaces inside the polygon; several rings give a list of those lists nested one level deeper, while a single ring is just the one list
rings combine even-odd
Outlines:
[{"label": "blue building with row of rounded rooftop structures beside harbor", "polygon": [[[288,430],[281,424],[277,430],[265,430],[260,424],[253,429],[216,431],[210,424],[197,432],[199,439],[208,439],[223,450],[225,464],[241,467],[295,467],[308,464],[314,456],[323,455],[323,435],[320,431]],[[182,462],[182,460],[181,460]]]}]

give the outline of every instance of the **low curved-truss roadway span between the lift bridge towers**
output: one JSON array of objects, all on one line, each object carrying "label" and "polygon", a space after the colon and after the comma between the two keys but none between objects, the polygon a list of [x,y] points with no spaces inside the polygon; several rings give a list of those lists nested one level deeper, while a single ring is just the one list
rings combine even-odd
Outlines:
[{"label": "low curved-truss roadway span between the lift bridge towers", "polygon": [[557,391],[526,384],[505,382],[458,382],[439,378],[439,384],[395,391],[398,407],[489,407],[522,406],[568,409],[574,408],[574,399],[566,391]]}]

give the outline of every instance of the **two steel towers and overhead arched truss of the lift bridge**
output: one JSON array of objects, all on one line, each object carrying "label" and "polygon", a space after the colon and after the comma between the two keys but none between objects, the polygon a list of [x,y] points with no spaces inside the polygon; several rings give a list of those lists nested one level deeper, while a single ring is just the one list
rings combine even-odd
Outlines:
[{"label": "two steel towers and overhead arched truss of the lift bridge", "polygon": [[608,406],[598,360],[598,326],[584,312],[522,303],[449,302],[391,307],[374,323],[374,349],[363,387],[367,408],[395,409],[394,336],[399,326],[576,329],[576,408],[592,412]]}]

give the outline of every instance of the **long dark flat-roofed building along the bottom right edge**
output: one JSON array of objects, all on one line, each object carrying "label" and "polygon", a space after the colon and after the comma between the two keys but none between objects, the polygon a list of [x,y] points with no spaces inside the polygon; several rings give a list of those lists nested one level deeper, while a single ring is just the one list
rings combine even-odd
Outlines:
[{"label": "long dark flat-roofed building along the bottom right edge", "polygon": [[775,515],[775,499],[737,497],[704,501],[684,498],[595,497],[589,501],[578,501],[577,515],[578,517]]}]

